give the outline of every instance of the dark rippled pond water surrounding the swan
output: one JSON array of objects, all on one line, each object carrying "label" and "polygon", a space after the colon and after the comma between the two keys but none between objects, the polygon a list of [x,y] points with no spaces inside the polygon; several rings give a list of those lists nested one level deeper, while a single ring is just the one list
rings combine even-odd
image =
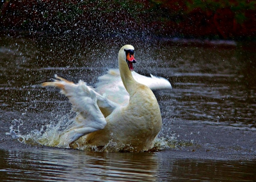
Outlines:
[{"label": "dark rippled pond water surrounding the swan", "polygon": [[[142,75],[168,79],[160,151],[49,148],[22,137],[74,117],[58,74],[90,85],[132,44]],[[255,181],[255,43],[150,38],[0,38],[0,181]],[[14,134],[13,134],[14,133]]]}]

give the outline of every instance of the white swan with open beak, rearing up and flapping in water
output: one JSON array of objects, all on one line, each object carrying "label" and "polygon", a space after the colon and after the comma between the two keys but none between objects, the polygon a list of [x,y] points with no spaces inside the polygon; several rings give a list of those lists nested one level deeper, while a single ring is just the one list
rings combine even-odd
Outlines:
[{"label": "white swan with open beak, rearing up and flapping in water", "polygon": [[161,77],[133,72],[133,63],[136,63],[134,47],[124,45],[118,53],[119,71],[109,70],[99,77],[95,88],[82,80],[74,84],[57,75],[53,82],[42,84],[60,88],[77,112],[74,123],[60,136],[60,144],[71,147],[81,138],[86,145],[100,147],[112,141],[130,146],[133,152],[154,147],[162,118],[151,89],[172,86]]}]

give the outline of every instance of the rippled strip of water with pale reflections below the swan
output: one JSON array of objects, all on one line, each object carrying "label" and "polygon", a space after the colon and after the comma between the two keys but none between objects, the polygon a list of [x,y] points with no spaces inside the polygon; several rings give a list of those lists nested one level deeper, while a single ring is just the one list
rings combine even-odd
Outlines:
[{"label": "rippled strip of water with pale reflections below the swan", "polygon": [[[178,153],[1,151],[3,181],[253,181],[255,162],[196,160]],[[246,172],[245,172],[246,171]]]}]

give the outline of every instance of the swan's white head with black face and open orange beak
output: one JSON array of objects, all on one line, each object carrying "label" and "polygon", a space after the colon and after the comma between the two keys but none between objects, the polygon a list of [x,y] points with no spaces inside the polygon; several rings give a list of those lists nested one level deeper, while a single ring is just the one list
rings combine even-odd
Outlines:
[{"label": "swan's white head with black face and open orange beak", "polygon": [[133,65],[132,63],[136,63],[136,60],[134,59],[134,47],[132,45],[124,45],[119,50],[119,56],[122,57],[122,60],[125,60],[129,70],[133,71]]}]

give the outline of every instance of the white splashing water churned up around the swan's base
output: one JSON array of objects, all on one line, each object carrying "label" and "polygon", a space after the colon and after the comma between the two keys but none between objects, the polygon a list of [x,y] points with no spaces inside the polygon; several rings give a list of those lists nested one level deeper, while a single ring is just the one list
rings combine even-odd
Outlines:
[{"label": "white splashing water churned up around the swan's base", "polygon": [[[10,126],[10,132],[6,132],[6,135],[11,135],[13,139],[17,139],[20,142],[29,144],[31,146],[49,146],[56,148],[73,148],[86,151],[97,152],[138,152],[136,148],[133,148],[129,144],[117,143],[110,140],[105,146],[92,146],[85,144],[86,136],[81,137],[72,144],[60,142],[60,138],[65,134],[74,123],[74,119],[70,119],[70,116],[57,116],[58,122],[50,122],[50,124],[42,125],[40,129],[31,130],[29,133],[23,134],[21,129],[24,126],[22,119],[13,119]],[[175,134],[165,137],[156,137],[154,141],[154,148],[144,152],[156,152],[166,149],[177,149],[185,146],[193,145],[193,141],[178,141]]]}]

